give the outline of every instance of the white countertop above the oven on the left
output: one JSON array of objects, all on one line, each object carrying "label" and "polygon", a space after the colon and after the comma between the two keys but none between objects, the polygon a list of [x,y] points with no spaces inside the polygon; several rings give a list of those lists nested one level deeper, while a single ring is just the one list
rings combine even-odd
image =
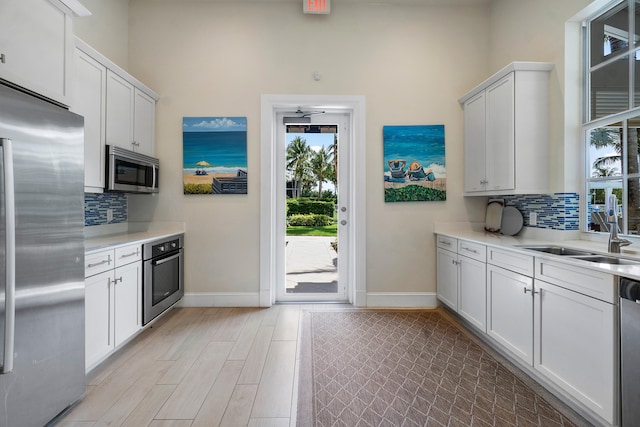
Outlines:
[{"label": "white countertop above the oven on the left", "polygon": [[[104,234],[101,234],[101,232]],[[136,223],[122,227],[103,228],[97,231],[86,230],[84,249],[86,254],[90,254],[134,243],[143,244],[184,232],[184,224],[174,222]]]}]

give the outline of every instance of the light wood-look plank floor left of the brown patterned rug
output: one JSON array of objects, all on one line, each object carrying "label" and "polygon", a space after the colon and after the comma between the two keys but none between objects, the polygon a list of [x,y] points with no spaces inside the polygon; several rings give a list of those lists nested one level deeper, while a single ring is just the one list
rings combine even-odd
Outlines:
[{"label": "light wood-look plank floor left of the brown patterned rug", "polygon": [[301,312],[340,307],[173,309],[90,372],[56,426],[294,426]]}]

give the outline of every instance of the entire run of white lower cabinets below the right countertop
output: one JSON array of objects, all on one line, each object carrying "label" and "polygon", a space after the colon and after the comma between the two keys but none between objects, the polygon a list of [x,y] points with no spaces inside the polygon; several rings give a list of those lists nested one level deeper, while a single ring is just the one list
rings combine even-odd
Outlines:
[{"label": "entire run of white lower cabinets below the right countertop", "polygon": [[[443,249],[447,239],[457,240],[458,253]],[[438,236],[440,301],[480,330],[483,312],[475,303],[486,301],[485,332],[496,348],[512,355],[540,380],[544,378],[549,387],[553,384],[556,392],[591,411],[600,423],[616,425],[615,276],[560,259],[493,247],[486,248],[486,264],[477,259],[467,261],[460,255],[464,248],[482,258],[479,248],[483,245]],[[481,291],[484,285],[477,286],[483,266],[486,296]],[[454,280],[457,288],[452,286]],[[451,301],[456,301],[455,305]]]}]

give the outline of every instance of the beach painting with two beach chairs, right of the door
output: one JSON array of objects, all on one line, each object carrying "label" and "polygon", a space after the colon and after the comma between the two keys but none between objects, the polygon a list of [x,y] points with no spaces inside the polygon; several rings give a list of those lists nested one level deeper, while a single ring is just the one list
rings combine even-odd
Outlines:
[{"label": "beach painting with two beach chairs, right of the door", "polygon": [[384,126],[384,201],[447,199],[444,125]]}]

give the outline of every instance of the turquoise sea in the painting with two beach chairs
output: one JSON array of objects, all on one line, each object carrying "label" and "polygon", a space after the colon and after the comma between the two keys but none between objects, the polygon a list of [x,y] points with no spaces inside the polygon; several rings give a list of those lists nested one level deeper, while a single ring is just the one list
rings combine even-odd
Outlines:
[{"label": "turquoise sea in the painting with two beach chairs", "polygon": [[402,159],[407,166],[416,161],[444,177],[444,125],[384,126],[382,132],[385,172],[390,172],[389,160]]}]

